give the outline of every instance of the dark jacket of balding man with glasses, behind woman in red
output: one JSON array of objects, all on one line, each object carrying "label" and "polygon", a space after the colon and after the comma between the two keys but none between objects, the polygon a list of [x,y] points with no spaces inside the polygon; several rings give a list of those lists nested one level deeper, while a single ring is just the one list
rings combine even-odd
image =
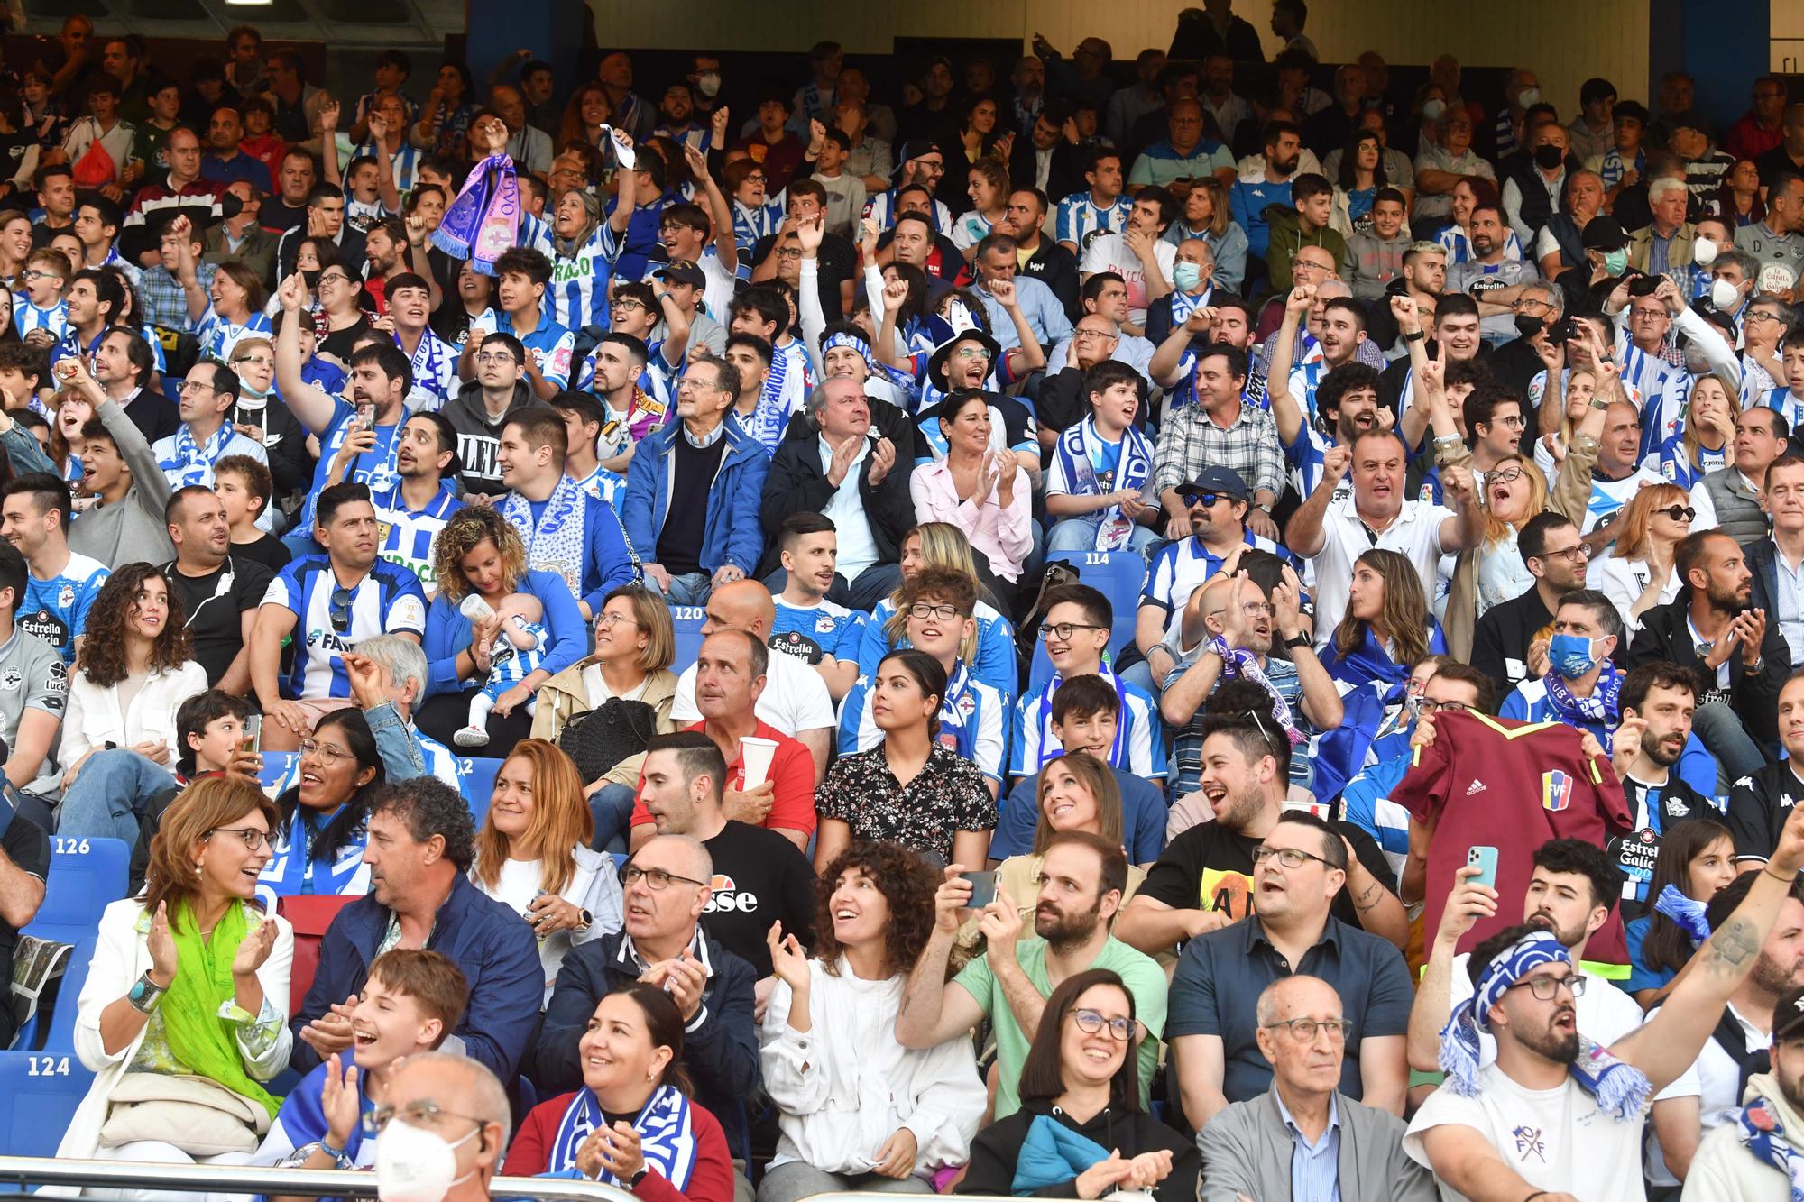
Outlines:
[{"label": "dark jacket of balding man with glasses, behind woman in red", "polygon": [[[626,931],[579,944],[565,957],[552,987],[545,1022],[527,1061],[527,1079],[539,1097],[583,1088],[577,1041],[603,996],[639,980],[639,964],[622,955]],[[752,966],[713,938],[704,937],[713,967],[702,991],[705,1018],[684,1032],[682,1063],[695,1081],[695,1099],[720,1117],[729,1132],[731,1115],[743,1114],[745,1099],[758,1088],[758,1027],[752,1022]]]}]

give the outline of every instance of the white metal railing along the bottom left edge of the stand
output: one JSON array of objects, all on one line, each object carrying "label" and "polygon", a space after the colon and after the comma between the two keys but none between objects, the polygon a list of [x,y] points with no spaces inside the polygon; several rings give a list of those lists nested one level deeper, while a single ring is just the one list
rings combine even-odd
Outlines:
[{"label": "white metal railing along the bottom left edge of the stand", "polygon": [[[139,1160],[0,1157],[0,1186],[373,1198],[375,1173],[233,1164],[144,1164]],[[603,1186],[594,1180],[561,1180],[556,1177],[496,1177],[489,1182],[489,1195],[496,1198],[545,1198],[545,1202],[635,1202],[631,1193],[613,1186]]]}]

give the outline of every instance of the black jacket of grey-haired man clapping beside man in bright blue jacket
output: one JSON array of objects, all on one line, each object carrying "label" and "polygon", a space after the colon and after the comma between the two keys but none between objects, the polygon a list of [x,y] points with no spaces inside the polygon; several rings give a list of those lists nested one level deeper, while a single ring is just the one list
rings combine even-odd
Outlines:
[{"label": "black jacket of grey-haired man clapping beside man in bright blue jacket", "polygon": [[[864,498],[864,516],[871,523],[879,563],[900,563],[902,538],[915,525],[915,502],[907,480],[915,471],[915,424],[907,413],[884,401],[871,401],[871,431],[866,440],[889,439],[897,448],[897,462],[880,484],[871,484],[871,458],[864,458],[859,476],[859,496]],[[805,413],[790,417],[783,442],[770,457],[770,475],[765,476],[765,495],[758,520],[765,527],[765,558],[758,576],[769,576],[781,567],[778,559],[778,531],[792,513],[821,513],[833,498],[833,487],[821,467],[821,431]]]}]

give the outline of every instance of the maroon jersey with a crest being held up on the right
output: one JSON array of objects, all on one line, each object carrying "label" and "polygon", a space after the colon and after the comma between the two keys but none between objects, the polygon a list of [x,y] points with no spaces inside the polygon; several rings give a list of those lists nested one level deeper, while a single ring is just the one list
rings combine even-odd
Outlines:
[{"label": "maroon jersey with a crest being held up on the right", "polygon": [[[1431,940],[1470,848],[1497,848],[1497,913],[1479,919],[1459,938],[1459,951],[1523,920],[1533,854],[1542,843],[1584,839],[1604,846],[1611,836],[1629,834],[1622,783],[1607,758],[1578,749],[1582,738],[1584,731],[1564,722],[1458,711],[1434,717],[1434,742],[1414,751],[1413,767],[1391,791],[1413,819],[1434,827],[1422,915]],[[1620,908],[1611,908],[1609,920],[1586,944],[1586,960],[1629,962]]]}]

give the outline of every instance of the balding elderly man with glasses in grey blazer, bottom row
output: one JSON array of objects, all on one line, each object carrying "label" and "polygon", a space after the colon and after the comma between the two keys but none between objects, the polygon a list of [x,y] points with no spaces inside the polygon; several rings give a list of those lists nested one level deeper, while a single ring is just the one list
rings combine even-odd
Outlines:
[{"label": "balding elderly man with glasses in grey blazer, bottom row", "polygon": [[1209,1121],[1200,1202],[1292,1197],[1342,1202],[1434,1202],[1434,1177],[1404,1155],[1404,1123],[1337,1090],[1348,1020],[1317,976],[1283,976],[1259,994],[1259,1050],[1272,1088]]}]

